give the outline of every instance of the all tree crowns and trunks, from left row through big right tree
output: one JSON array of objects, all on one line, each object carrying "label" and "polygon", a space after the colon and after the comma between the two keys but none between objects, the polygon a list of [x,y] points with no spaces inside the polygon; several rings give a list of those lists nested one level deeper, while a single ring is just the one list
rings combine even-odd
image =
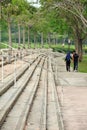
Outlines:
[{"label": "all tree crowns and trunks, from left row through big right tree", "polygon": [[44,38],[50,46],[50,36],[68,35],[75,42],[75,48],[82,60],[82,47],[87,39],[87,1],[86,0],[40,0],[41,7],[31,6],[27,0],[1,0],[0,21],[8,26],[9,45],[12,46],[11,28],[17,25],[18,45],[21,43],[21,27],[23,31],[23,45],[25,46],[25,31],[28,33],[28,47],[30,46],[30,30],[34,35],[41,35],[41,45]]}]

